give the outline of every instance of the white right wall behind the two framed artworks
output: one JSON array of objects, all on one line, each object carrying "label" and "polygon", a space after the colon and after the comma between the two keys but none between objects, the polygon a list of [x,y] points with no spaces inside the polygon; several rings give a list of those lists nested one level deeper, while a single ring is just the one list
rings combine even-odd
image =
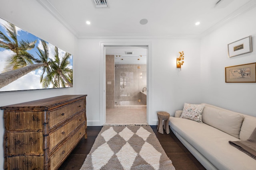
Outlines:
[{"label": "white right wall behind the two framed artworks", "polygon": [[[225,83],[225,67],[256,62],[256,8],[202,38],[202,101],[256,116],[256,83]],[[228,58],[227,44],[252,35],[252,53]]]}]

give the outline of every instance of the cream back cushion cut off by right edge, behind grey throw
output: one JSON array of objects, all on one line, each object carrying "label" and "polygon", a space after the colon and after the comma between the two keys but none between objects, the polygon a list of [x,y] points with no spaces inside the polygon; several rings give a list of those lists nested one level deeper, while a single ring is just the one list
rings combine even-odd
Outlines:
[{"label": "cream back cushion cut off by right edge, behind grey throw", "polygon": [[250,137],[250,135],[252,134],[255,128],[256,128],[256,118],[245,117],[242,123],[239,139],[241,139],[242,141],[246,141]]}]

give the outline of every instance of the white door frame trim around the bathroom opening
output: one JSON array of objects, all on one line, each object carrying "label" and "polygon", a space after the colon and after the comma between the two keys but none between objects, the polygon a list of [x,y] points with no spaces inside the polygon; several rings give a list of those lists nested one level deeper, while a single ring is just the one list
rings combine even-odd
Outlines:
[{"label": "white door frame trim around the bathroom opening", "polygon": [[152,124],[152,42],[100,42],[100,124],[106,123],[106,48],[105,46],[147,46],[147,122]]}]

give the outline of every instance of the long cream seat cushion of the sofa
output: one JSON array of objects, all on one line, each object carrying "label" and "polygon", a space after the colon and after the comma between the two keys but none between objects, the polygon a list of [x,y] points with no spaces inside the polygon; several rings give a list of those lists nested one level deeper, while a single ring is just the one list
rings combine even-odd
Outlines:
[{"label": "long cream seat cushion of the sofa", "polygon": [[238,139],[205,123],[170,117],[172,131],[178,133],[219,170],[254,170],[256,161],[232,147]]}]

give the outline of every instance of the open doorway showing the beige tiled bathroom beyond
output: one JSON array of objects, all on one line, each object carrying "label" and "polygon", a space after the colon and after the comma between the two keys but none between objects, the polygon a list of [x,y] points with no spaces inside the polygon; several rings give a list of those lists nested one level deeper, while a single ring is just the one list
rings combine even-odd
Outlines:
[{"label": "open doorway showing the beige tiled bathroom beyond", "polygon": [[148,46],[105,49],[106,124],[146,124]]}]

